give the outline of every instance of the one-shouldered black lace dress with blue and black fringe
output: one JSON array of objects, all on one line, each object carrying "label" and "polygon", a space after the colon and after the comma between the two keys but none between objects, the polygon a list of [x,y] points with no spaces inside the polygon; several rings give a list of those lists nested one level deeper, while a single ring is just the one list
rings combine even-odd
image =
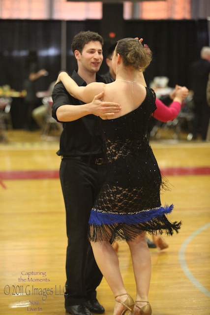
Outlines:
[{"label": "one-shouldered black lace dress with blue and black fringe", "polygon": [[91,241],[131,240],[142,231],[172,235],[180,228],[180,222],[170,222],[165,216],[173,205],[160,203],[163,182],[147,137],[155,94],[146,89],[146,98],[137,109],[117,119],[101,120],[108,174],[91,210]]}]

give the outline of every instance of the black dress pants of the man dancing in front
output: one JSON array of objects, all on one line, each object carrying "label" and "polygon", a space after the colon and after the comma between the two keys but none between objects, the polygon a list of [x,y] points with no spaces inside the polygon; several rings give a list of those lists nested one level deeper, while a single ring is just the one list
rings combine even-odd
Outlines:
[{"label": "black dress pants of the man dancing in front", "polygon": [[105,176],[105,164],[89,165],[75,158],[63,158],[60,164],[68,238],[65,306],[94,299],[96,287],[102,280],[88,240],[88,222]]}]

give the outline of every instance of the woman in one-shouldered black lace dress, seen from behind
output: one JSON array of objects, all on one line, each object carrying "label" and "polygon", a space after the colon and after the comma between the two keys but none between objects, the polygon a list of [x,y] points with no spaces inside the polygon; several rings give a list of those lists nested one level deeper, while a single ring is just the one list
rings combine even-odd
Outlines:
[{"label": "woman in one-shouldered black lace dress, seen from behind", "polygon": [[[148,302],[151,261],[145,233],[165,231],[172,235],[180,228],[180,222],[170,222],[165,216],[173,205],[161,206],[163,183],[147,137],[150,115],[156,108],[155,94],[139,82],[142,82],[141,71],[150,61],[147,47],[137,39],[124,38],[118,41],[112,59],[116,81],[78,87],[67,73],[60,73],[58,79],[71,95],[86,103],[103,91],[104,100],[121,105],[119,113],[101,117],[108,172],[89,221],[95,260],[115,296],[114,315],[126,311],[151,314]],[[126,240],[131,252],[135,303],[126,292],[118,255],[111,245],[121,239]]]}]

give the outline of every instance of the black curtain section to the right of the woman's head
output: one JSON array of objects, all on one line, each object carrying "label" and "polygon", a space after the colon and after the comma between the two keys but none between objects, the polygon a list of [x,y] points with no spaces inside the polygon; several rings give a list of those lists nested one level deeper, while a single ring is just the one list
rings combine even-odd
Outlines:
[{"label": "black curtain section to the right of the woman's head", "polygon": [[[189,65],[200,57],[199,25],[191,20],[127,22],[126,37],[143,37],[152,51],[152,62],[145,72],[148,84],[155,76],[167,76],[170,87],[188,86]],[[208,46],[208,40],[203,45]]]}]

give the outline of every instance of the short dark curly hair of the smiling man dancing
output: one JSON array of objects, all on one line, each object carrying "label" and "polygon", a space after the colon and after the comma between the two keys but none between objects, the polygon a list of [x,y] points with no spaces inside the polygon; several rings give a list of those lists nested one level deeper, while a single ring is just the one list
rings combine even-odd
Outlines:
[{"label": "short dark curly hair of the smiling man dancing", "polygon": [[75,50],[79,50],[79,52],[82,53],[84,46],[90,41],[99,41],[101,43],[101,46],[103,47],[104,40],[101,35],[96,32],[82,31],[75,35],[73,38],[71,45],[73,53],[75,52]]}]

